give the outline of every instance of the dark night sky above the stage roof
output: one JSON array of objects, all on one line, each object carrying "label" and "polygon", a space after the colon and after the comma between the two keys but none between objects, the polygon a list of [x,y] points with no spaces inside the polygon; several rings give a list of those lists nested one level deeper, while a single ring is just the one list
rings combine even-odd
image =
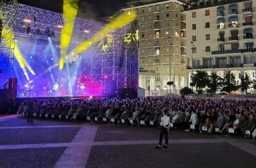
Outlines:
[{"label": "dark night sky above the stage roof", "polygon": [[[19,0],[20,4],[62,12],[63,0]],[[113,15],[129,0],[80,0],[78,17],[101,18]]]}]

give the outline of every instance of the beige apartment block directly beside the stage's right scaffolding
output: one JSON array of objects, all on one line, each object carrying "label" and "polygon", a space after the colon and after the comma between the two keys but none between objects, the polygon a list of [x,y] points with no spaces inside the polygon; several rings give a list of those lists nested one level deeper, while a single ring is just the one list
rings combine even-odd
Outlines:
[{"label": "beige apartment block directly beside the stage's right scaffolding", "polygon": [[[139,2],[139,3],[138,3]],[[136,1],[139,31],[139,87],[146,95],[176,93],[187,83],[186,24],[181,1]],[[167,81],[173,81],[169,91]]]}]

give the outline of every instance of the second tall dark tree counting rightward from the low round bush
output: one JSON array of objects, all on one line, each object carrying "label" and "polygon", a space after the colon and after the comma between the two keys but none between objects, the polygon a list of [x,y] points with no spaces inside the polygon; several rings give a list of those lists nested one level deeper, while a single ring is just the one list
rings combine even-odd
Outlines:
[{"label": "second tall dark tree counting rightward from the low round bush", "polygon": [[209,76],[207,87],[208,92],[214,94],[220,87],[222,87],[222,78],[217,76],[216,72],[212,72],[211,75]]}]

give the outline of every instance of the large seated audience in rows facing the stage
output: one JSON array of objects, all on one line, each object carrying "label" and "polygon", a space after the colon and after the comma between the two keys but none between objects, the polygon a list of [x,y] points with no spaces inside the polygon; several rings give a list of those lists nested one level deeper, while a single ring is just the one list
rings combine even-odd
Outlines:
[{"label": "large seated audience in rows facing the stage", "polygon": [[[20,103],[18,116],[26,115],[29,103]],[[147,126],[159,125],[168,111],[172,127],[186,131],[243,134],[256,137],[255,100],[201,100],[184,97],[137,99],[63,100],[33,102],[33,116],[53,119],[87,119]]]}]

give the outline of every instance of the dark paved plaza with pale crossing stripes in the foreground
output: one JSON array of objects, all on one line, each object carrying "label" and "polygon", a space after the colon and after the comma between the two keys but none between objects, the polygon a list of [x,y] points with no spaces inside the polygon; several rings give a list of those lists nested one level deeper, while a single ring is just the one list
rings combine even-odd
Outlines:
[{"label": "dark paved plaza with pale crossing stripes in the foreground", "polygon": [[256,141],[181,129],[0,117],[0,167],[256,167]]}]

